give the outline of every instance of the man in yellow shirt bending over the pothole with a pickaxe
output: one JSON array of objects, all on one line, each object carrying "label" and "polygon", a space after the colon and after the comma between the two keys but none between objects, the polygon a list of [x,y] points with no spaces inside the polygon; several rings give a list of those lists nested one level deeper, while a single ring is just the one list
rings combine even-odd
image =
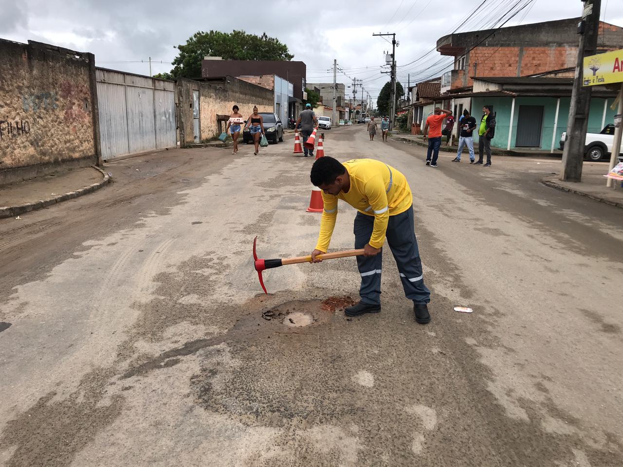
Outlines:
[{"label": "man in yellow shirt bending over the pothole with a pickaxe", "polygon": [[312,184],[323,191],[325,209],[312,260],[326,253],[338,216],[338,199],[359,212],[354,220],[354,247],[363,248],[357,257],[361,274],[359,303],[346,308],[347,316],[381,311],[381,254],[385,238],[394,255],[407,298],[413,300],[417,323],[430,321],[427,303],[430,291],[424,285],[413,221],[413,196],[401,172],[374,159],[353,159],[341,164],[325,156],[312,166]]}]

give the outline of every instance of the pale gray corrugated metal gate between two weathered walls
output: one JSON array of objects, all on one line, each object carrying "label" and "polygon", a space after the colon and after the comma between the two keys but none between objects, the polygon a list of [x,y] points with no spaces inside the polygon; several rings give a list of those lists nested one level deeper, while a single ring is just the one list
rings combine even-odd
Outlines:
[{"label": "pale gray corrugated metal gate between two weathered walls", "polygon": [[173,82],[95,71],[102,159],[177,145]]}]

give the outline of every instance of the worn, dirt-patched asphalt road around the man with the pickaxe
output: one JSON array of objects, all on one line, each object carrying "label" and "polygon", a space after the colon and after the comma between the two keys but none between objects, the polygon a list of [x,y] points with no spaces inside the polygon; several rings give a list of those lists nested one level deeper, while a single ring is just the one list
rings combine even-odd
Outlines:
[{"label": "worn, dirt-patched asphalt road around the man with the pickaxe", "polygon": [[318,235],[292,136],[125,159],[0,220],[0,465],[623,465],[623,210],[543,186],[559,159],[425,167],[377,136],[326,131],[325,153],[406,174],[426,326],[389,248],[379,314],[343,314],[354,258],[265,271],[260,293],[255,235],[263,258]]}]

